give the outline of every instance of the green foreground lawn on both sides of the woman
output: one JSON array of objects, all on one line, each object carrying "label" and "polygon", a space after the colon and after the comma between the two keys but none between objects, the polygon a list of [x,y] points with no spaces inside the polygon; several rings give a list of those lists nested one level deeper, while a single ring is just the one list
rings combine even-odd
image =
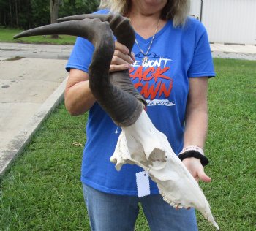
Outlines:
[{"label": "green foreground lawn on both sides of the woman", "polygon": [[[256,230],[256,62],[215,59],[206,173],[200,183],[222,231]],[[86,116],[60,105],[1,180],[0,230],[89,230],[80,184]],[[199,230],[214,230],[197,213]],[[140,212],[136,230],[149,230]]]}]

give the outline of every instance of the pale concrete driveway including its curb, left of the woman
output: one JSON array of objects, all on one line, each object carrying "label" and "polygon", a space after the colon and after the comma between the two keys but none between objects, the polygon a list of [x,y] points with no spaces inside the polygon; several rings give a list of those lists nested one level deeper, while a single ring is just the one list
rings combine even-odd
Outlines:
[{"label": "pale concrete driveway including its curb, left of the woman", "polygon": [[[62,99],[72,46],[0,45],[0,175]],[[13,58],[16,56],[30,58]],[[13,59],[12,59],[13,58]]]}]

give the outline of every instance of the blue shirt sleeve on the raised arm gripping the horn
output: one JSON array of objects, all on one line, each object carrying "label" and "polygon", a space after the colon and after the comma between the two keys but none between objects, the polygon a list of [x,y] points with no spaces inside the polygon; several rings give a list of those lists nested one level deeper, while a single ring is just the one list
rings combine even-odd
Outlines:
[{"label": "blue shirt sleeve on the raised arm gripping the horn", "polygon": [[89,72],[89,65],[91,64],[92,53],[94,53],[94,45],[87,39],[78,37],[76,39],[74,48],[69,60],[67,61],[66,70],[80,69],[83,72]]}]

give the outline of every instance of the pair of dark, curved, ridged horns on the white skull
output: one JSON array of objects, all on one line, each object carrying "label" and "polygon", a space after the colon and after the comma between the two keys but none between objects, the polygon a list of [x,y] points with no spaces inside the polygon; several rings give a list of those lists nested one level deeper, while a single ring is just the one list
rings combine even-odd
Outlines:
[{"label": "pair of dark, curved, ridged horns on the white skull", "polygon": [[89,86],[103,110],[118,126],[137,121],[146,100],[132,85],[129,71],[109,72],[115,49],[113,35],[131,52],[135,32],[121,15],[75,15],[62,22],[41,26],[15,35],[15,39],[45,34],[68,34],[88,39],[94,45],[89,66]]}]

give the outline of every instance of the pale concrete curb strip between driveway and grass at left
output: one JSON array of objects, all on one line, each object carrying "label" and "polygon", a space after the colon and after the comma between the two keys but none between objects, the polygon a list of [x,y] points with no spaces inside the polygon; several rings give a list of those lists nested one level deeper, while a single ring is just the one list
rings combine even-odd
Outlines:
[{"label": "pale concrete curb strip between driveway and grass at left", "polygon": [[64,99],[64,88],[67,83],[67,78],[53,91],[48,99],[39,107],[37,112],[32,116],[24,126],[24,129],[20,130],[15,137],[7,144],[4,150],[0,151],[0,178],[4,175],[12,162],[22,153],[26,145],[29,144],[34,133],[37,132],[40,125],[45,118],[59,105]]}]

